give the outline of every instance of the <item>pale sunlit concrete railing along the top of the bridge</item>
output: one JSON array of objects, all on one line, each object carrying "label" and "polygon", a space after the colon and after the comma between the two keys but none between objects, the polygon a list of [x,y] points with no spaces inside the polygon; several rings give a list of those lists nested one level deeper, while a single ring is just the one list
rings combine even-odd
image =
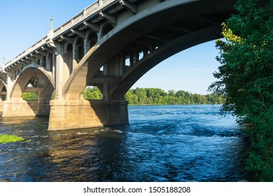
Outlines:
[{"label": "pale sunlit concrete railing along the top of the bridge", "polygon": [[[110,3],[113,1],[119,1],[119,0],[98,0],[92,3],[90,6],[82,10],[80,13],[75,15],[73,18],[65,22],[63,25],[55,29],[54,32],[54,37],[59,36],[60,34],[64,33],[65,31],[71,29],[74,25],[77,25],[79,22],[85,20],[88,18],[90,15],[93,15],[94,13],[97,13],[97,11],[101,10],[105,6],[108,6]],[[9,62],[4,64],[0,71],[5,69],[7,66],[10,66],[11,64],[14,64],[15,62],[18,62],[20,59],[26,57],[29,55],[31,52],[38,50],[38,48],[41,48],[41,46],[46,44],[46,40],[48,39],[48,36],[45,36],[41,40],[37,41],[34,43],[34,45],[31,45],[31,47],[27,48],[24,52],[20,53],[20,55],[16,56],[15,58],[11,59]]]}]

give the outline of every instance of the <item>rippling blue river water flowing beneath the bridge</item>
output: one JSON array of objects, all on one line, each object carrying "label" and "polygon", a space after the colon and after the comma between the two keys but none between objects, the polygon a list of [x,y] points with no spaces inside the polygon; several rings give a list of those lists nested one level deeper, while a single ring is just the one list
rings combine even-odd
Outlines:
[{"label": "rippling blue river water flowing beneath the bridge", "polygon": [[0,118],[0,181],[239,181],[246,139],[220,106],[129,106],[130,125],[48,132],[48,118]]}]

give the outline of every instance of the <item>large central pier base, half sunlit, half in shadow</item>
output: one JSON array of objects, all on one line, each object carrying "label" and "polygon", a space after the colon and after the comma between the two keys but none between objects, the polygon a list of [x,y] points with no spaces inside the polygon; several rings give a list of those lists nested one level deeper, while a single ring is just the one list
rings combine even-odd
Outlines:
[{"label": "large central pier base, half sunlit, half in shadow", "polygon": [[127,125],[128,102],[104,100],[50,101],[48,130],[75,130],[90,127]]}]

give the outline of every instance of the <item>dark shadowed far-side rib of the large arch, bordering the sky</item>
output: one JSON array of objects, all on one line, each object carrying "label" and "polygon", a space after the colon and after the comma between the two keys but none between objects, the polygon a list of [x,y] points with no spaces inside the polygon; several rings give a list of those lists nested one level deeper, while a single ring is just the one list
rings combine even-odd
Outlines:
[{"label": "dark shadowed far-side rib of the large arch, bordering the sky", "polygon": [[186,50],[190,47],[205,43],[207,41],[221,38],[221,27],[209,27],[200,31],[195,31],[186,36],[176,38],[165,45],[162,45],[157,50],[153,50],[149,55],[141,59],[139,62],[127,71],[121,78],[120,83],[111,89],[111,99],[120,100],[124,99],[124,96],[130,87],[139,80],[145,73],[153,69],[165,59],[175,55],[178,52]]}]

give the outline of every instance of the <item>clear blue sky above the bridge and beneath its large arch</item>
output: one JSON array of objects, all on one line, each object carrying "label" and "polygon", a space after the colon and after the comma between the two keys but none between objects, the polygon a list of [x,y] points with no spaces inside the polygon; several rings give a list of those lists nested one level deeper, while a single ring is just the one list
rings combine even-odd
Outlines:
[{"label": "clear blue sky above the bridge and beneath its large arch", "polygon": [[[46,36],[50,16],[54,29],[90,6],[94,0],[8,0],[0,1],[0,65],[19,55]],[[186,90],[207,94],[216,80],[212,73],[220,65],[216,61],[215,41],[196,45],[179,52],[146,73],[132,88],[159,87],[165,90]]]}]

